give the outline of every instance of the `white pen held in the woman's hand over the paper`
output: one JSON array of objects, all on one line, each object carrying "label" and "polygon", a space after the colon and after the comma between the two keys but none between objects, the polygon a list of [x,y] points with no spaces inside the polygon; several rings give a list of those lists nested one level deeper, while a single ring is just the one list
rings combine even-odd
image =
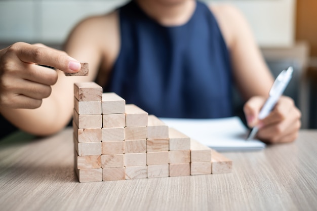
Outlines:
[{"label": "white pen held in the woman's hand over the paper", "polygon": [[[276,102],[278,102],[278,100],[280,99],[281,95],[283,94],[284,90],[286,89],[288,83],[290,82],[291,78],[292,78],[292,73],[293,73],[293,67],[289,67],[287,70],[283,70],[278,77],[276,77],[273,86],[269,92],[269,97],[266,100],[266,102],[264,103],[258,118],[264,119],[270,112],[271,110],[274,108]],[[247,140],[252,140],[254,139],[255,135],[258,132],[258,128],[257,126],[255,126]]]}]

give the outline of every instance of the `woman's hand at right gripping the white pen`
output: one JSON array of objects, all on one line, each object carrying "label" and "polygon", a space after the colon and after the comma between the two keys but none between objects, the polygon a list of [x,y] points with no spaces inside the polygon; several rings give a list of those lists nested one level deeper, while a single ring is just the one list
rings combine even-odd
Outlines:
[{"label": "woman's hand at right gripping the white pen", "polygon": [[264,97],[252,97],[244,106],[244,112],[250,128],[257,126],[258,139],[266,143],[293,142],[301,126],[301,112],[295,107],[294,101],[282,96],[271,113],[259,120],[258,114],[265,102]]}]

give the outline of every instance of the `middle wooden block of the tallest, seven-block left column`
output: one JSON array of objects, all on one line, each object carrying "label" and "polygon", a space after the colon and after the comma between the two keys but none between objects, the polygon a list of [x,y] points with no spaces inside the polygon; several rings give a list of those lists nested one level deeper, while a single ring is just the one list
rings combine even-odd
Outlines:
[{"label": "middle wooden block of the tallest, seven-block left column", "polygon": [[101,128],[79,129],[76,123],[72,124],[74,136],[78,142],[99,142],[102,139]]}]

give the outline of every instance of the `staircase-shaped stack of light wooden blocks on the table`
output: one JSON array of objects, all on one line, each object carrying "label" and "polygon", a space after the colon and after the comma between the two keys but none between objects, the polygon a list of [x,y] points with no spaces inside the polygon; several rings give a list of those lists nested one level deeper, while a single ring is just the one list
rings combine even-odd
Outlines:
[{"label": "staircase-shaped stack of light wooden blocks on the table", "polygon": [[232,161],[95,82],[74,84],[80,182],[229,173]]}]

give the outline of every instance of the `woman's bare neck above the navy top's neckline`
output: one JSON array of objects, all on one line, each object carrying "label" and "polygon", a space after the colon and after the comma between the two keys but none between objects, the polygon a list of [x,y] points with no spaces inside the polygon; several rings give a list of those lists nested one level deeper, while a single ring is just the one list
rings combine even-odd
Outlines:
[{"label": "woman's bare neck above the navy top's neckline", "polygon": [[151,18],[164,26],[185,24],[192,16],[194,0],[135,0],[139,7]]}]

